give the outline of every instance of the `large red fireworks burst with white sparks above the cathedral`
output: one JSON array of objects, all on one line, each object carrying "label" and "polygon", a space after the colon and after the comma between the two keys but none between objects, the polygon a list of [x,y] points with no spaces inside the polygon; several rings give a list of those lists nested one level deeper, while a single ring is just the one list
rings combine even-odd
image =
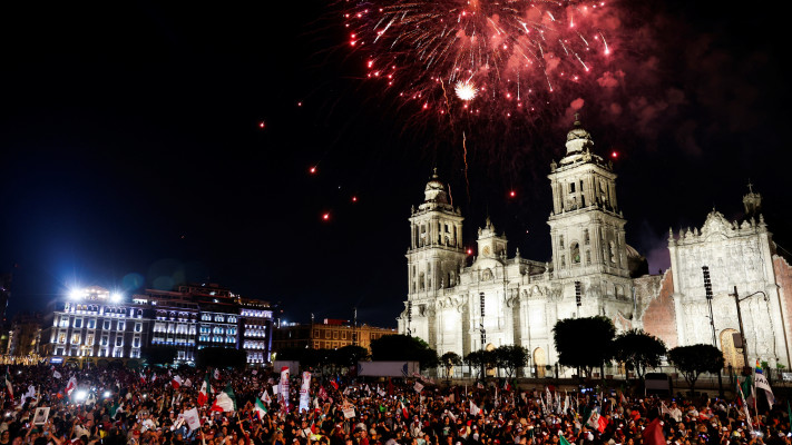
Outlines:
[{"label": "large red fireworks burst with white sparks above the cathedral", "polygon": [[421,116],[433,112],[452,125],[461,116],[530,115],[566,100],[558,91],[579,93],[595,80],[591,71],[609,63],[614,43],[605,37],[618,22],[591,0],[343,4],[348,43],[363,57],[368,78],[415,103],[410,109]]}]

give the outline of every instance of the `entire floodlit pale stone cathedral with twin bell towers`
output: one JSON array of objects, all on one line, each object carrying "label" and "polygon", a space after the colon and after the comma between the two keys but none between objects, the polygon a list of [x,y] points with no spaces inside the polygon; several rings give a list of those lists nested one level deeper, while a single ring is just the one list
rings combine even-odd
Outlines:
[{"label": "entire floodlit pale stone cathedral with twin bell towers", "polygon": [[761,196],[750,190],[744,197],[743,221],[713,209],[701,228],[671,229],[671,268],[648,275],[645,259],[625,241],[616,177],[576,121],[566,156],[550,164],[548,175],[551,261],[524,258],[519,249],[508,257],[506,236],[488,218],[468,265],[465,218],[436,172],[410,215],[409,291],[399,332],[424,339],[439,355],[524,346],[542,374],[558,359],[556,323],[602,315],[618,332],[642,328],[668,348],[716,344],[737,367],[744,362],[734,335],[740,305],[749,363],[789,368],[792,267],[776,254]]}]

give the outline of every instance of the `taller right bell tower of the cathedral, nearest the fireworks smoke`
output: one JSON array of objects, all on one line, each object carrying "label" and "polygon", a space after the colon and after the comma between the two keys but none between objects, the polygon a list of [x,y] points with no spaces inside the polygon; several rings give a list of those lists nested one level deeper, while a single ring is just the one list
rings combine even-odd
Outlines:
[{"label": "taller right bell tower of the cathedral, nearest the fireworks smoke", "polygon": [[567,134],[566,156],[550,164],[553,268],[558,278],[590,274],[629,277],[627,222],[616,199],[612,162],[591,152],[594,140],[575,121]]}]

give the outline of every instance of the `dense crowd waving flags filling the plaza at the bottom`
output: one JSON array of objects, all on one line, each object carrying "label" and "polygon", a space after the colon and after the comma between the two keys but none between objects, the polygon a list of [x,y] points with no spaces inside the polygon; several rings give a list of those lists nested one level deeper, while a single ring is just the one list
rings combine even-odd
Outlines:
[{"label": "dense crowd waving flags filling the plaza at the bottom", "polygon": [[[706,397],[314,375],[300,409],[301,378],[292,376],[286,402],[281,375],[263,369],[10,366],[0,445],[792,443],[785,403],[757,415]],[[208,402],[199,397],[204,382]],[[235,406],[217,408],[221,394],[233,394]],[[197,423],[186,422],[190,412]]]}]

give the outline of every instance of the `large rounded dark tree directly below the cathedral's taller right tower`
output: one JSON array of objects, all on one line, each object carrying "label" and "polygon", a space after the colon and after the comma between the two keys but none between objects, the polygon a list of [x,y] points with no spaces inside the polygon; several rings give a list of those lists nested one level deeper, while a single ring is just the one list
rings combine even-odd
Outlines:
[{"label": "large rounded dark tree directly below the cathedral's taller right tower", "polygon": [[564,366],[583,368],[586,376],[591,368],[603,366],[613,357],[616,327],[602,315],[558,320],[553,328],[553,339],[558,350],[558,362]]}]

